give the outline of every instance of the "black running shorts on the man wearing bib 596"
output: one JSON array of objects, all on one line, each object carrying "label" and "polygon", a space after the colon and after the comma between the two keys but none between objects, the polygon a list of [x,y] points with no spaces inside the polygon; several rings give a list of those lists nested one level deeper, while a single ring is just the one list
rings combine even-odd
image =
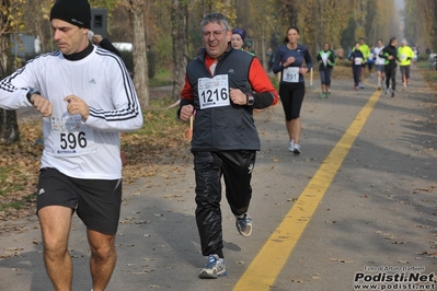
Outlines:
[{"label": "black running shorts on the man wearing bib 596", "polygon": [[122,179],[72,178],[56,168],[42,168],[37,211],[46,206],[69,207],[89,229],[115,234],[122,207]]}]

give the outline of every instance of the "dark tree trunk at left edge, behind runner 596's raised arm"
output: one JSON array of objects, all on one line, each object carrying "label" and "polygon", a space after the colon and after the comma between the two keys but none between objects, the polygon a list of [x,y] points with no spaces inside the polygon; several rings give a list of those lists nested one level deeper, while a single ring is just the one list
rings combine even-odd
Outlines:
[{"label": "dark tree trunk at left edge, behind runner 596's raised arm", "polygon": [[[2,11],[9,11],[9,0],[1,0]],[[11,40],[9,38],[11,27],[8,23],[8,13],[1,13],[0,18],[0,80],[12,72]],[[5,142],[20,141],[19,123],[16,112],[0,109],[0,140]]]}]

